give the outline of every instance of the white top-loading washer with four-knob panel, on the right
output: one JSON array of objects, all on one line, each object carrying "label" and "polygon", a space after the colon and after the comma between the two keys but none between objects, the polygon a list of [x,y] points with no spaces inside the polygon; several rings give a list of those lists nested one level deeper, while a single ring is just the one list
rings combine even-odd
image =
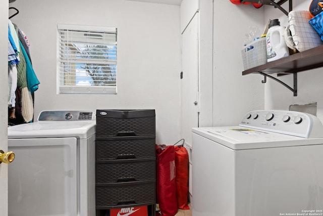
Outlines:
[{"label": "white top-loading washer with four-knob panel, on the right", "polygon": [[193,128],[192,161],[193,216],[323,215],[323,125],[313,115],[260,110],[239,126]]}]

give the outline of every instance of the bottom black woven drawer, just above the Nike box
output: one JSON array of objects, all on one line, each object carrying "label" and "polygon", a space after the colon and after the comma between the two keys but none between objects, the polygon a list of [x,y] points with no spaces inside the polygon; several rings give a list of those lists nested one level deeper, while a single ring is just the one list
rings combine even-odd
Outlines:
[{"label": "bottom black woven drawer, just above the Nike box", "polygon": [[96,184],[95,201],[97,209],[149,205],[155,203],[155,181],[133,183]]}]

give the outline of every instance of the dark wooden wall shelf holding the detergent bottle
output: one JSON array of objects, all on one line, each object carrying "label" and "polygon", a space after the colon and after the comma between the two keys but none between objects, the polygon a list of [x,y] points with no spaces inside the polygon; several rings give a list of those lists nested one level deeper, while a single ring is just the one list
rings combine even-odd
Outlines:
[{"label": "dark wooden wall shelf holding the detergent bottle", "polygon": [[323,45],[242,71],[242,75],[263,72],[279,75],[323,67]]}]

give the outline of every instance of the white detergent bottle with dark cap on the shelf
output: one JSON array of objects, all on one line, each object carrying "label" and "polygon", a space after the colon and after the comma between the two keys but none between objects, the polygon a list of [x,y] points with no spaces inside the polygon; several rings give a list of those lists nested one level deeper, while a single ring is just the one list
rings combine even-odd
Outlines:
[{"label": "white detergent bottle with dark cap on the shelf", "polygon": [[285,27],[280,26],[278,19],[271,20],[266,34],[267,62],[289,56],[288,47],[284,39]]}]

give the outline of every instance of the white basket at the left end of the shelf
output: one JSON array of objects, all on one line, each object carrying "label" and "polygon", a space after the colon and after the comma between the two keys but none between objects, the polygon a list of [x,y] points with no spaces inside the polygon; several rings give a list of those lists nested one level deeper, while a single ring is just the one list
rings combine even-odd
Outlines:
[{"label": "white basket at the left end of the shelf", "polygon": [[244,70],[267,63],[266,38],[261,37],[250,42],[244,47],[241,54]]}]

